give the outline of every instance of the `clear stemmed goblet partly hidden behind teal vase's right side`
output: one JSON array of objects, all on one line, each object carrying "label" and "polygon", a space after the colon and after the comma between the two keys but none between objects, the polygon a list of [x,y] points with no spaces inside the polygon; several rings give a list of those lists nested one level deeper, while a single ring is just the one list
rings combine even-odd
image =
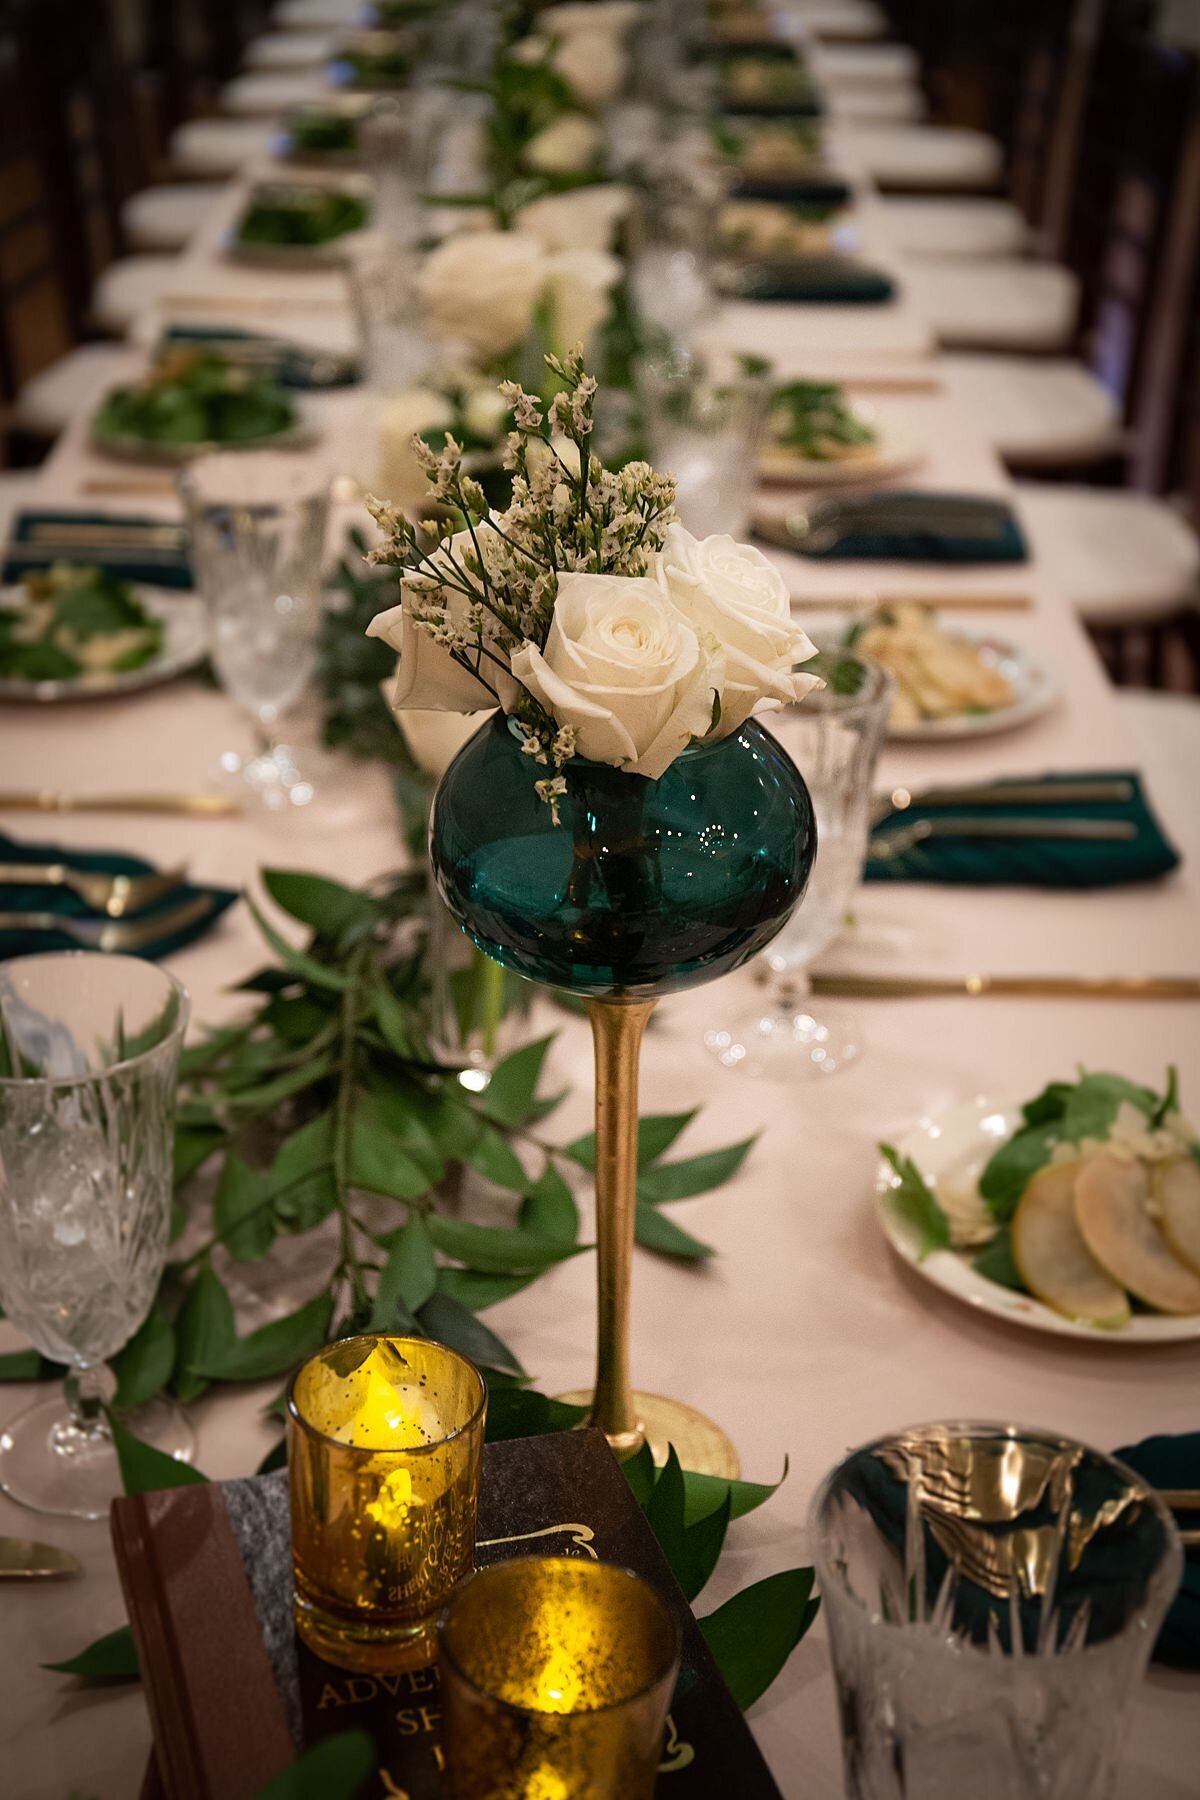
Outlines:
[{"label": "clear stemmed goblet partly hidden behind teal vase's right side", "polygon": [[887,671],[846,648],[819,648],[804,668],[826,686],[802,706],[768,713],[763,724],[808,785],[817,862],[804,898],[756,965],[768,999],[703,1035],[725,1067],[783,1080],[835,1075],[862,1049],[851,1021],[813,1013],[808,967],[837,938],[862,878],[874,769],[892,702]]}]

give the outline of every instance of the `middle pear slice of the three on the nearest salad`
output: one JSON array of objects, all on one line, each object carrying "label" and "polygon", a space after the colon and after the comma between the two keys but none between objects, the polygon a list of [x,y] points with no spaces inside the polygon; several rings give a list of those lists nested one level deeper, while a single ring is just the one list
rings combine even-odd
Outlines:
[{"label": "middle pear slice of the three on the nearest salad", "polygon": [[1076,1219],[1087,1247],[1155,1312],[1200,1312],[1200,1274],[1171,1253],[1150,1217],[1150,1170],[1141,1159],[1090,1157],[1076,1177]]}]

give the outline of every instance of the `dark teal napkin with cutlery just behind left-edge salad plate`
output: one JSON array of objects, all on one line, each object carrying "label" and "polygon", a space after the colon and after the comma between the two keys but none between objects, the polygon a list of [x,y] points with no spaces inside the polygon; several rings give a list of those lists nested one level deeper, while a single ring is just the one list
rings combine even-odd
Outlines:
[{"label": "dark teal napkin with cutlery just behind left-edge salad plate", "polygon": [[193,585],[187,529],[169,518],[63,509],[18,513],[0,580],[16,581],[31,569],[49,569],[56,562],[86,563],[119,581]]}]

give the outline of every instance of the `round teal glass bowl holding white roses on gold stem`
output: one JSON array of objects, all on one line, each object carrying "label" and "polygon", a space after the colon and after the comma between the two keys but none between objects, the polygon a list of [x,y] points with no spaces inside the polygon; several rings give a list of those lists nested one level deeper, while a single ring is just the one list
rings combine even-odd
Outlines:
[{"label": "round teal glass bowl holding white roses on gold stem", "polygon": [[587,999],[642,1001],[756,956],[804,893],[808,788],[754,720],[684,751],[657,781],[576,758],[560,823],[504,715],[434,799],[439,893],[480,950]]}]

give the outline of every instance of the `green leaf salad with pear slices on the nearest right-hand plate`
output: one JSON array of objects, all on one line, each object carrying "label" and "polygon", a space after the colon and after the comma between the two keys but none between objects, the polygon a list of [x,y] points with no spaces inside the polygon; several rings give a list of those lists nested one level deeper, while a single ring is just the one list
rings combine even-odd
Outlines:
[{"label": "green leaf salad with pear slices on the nearest right-hand plate", "polygon": [[1099,1330],[1135,1309],[1200,1314],[1200,1139],[1175,1069],[1162,1094],[1123,1075],[1051,1082],[977,1181],[930,1186],[910,1157],[880,1150],[921,1256],[957,1251]]}]

